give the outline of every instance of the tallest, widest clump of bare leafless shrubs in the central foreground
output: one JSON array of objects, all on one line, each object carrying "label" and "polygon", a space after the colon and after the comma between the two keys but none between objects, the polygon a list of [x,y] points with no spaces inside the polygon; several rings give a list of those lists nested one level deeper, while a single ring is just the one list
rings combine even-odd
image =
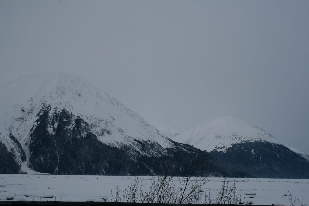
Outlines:
[{"label": "tallest, widest clump of bare leafless shrubs in the central foreground", "polygon": [[[166,162],[161,174],[150,180],[150,186],[147,187],[146,191],[141,189],[145,186],[142,185],[142,180],[139,177],[135,177],[131,186],[123,191],[122,201],[161,204],[201,202],[202,197],[205,195],[202,187],[209,181],[209,178],[207,176],[193,177],[193,174],[202,167],[202,162],[197,160],[197,156],[191,155],[188,164],[184,166],[185,176],[178,178],[174,178],[170,174],[171,166],[171,161]],[[178,187],[175,180],[178,182]],[[120,192],[121,189],[118,186],[116,186],[115,197],[111,191],[114,202],[121,202]],[[210,202],[212,201],[213,199],[210,200]]]}]

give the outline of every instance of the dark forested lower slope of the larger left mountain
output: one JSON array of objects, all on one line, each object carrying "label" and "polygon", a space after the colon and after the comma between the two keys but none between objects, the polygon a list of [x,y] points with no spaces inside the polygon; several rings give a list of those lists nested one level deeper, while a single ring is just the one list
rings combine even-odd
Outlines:
[{"label": "dark forested lower slope of the larger left mountain", "polygon": [[[169,162],[171,174],[181,176],[185,174],[188,162],[194,159],[199,162],[195,175],[250,176],[231,164],[222,164],[205,151],[177,142],[174,142],[175,148],[170,149],[158,149],[160,145],[139,140],[135,140],[135,149],[105,145],[79,116],[65,110],[49,116],[50,107],[43,108],[30,134],[29,167],[35,171],[51,174],[154,175],[160,174]],[[57,121],[54,134],[49,132],[50,121]],[[158,153],[144,154],[154,148]]]}]

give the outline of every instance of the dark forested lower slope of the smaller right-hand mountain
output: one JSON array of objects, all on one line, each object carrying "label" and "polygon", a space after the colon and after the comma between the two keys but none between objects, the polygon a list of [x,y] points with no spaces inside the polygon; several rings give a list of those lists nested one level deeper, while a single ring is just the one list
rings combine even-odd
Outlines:
[{"label": "dark forested lower slope of the smaller right-hand mountain", "polygon": [[253,177],[309,178],[309,162],[284,145],[270,142],[237,143],[226,152],[210,152],[221,161],[242,167]]}]

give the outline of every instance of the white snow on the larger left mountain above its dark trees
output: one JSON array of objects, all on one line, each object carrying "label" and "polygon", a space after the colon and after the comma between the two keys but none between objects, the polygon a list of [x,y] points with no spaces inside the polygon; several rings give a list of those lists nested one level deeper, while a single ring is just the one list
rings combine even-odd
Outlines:
[{"label": "white snow on the larger left mountain above its dark trees", "polygon": [[[120,147],[133,145],[134,139],[153,141],[163,148],[173,147],[170,139],[112,96],[101,93],[85,78],[75,74],[37,74],[0,85],[0,140],[8,150],[16,150],[9,137],[12,133],[26,152],[30,130],[36,125],[36,114],[44,103],[51,106],[50,114],[66,109],[80,116],[91,131],[105,144]],[[49,131],[57,125],[49,125]],[[111,134],[102,132],[107,129]],[[20,158],[19,158],[19,162]]]}]

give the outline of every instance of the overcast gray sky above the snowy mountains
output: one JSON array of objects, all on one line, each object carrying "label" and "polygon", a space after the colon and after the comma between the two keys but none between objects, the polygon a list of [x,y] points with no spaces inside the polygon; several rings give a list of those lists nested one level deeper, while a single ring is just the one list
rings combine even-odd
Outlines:
[{"label": "overcast gray sky above the snowy mountains", "polygon": [[154,125],[233,116],[309,151],[309,1],[0,1],[0,83],[65,71]]}]

